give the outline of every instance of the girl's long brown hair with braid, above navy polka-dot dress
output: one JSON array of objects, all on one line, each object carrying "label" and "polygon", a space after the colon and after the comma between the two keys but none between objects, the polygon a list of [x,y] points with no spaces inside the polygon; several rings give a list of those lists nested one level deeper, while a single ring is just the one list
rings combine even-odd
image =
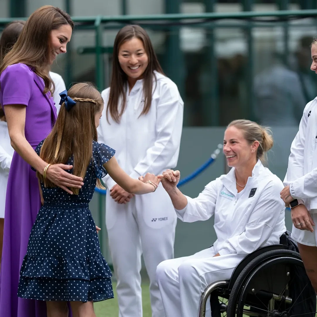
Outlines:
[{"label": "girl's long brown hair with braid, above navy polka-dot dress", "polygon": [[[69,111],[62,103],[51,133],[45,139],[40,157],[50,164],[65,164],[73,157],[73,174],[84,178],[92,159],[93,140],[97,141],[95,114],[100,111],[103,100],[100,92],[90,83],[78,83],[68,90],[68,96],[76,101]],[[46,187],[55,187],[49,180],[37,177]],[[99,183],[100,184],[100,183]],[[71,188],[78,194],[78,188]]]}]

